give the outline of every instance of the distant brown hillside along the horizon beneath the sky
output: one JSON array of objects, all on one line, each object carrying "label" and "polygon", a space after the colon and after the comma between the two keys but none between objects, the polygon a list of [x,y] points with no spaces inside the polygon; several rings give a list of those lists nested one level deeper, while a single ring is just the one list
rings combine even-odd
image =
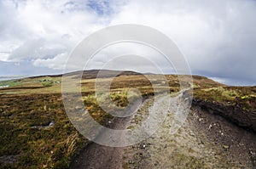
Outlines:
[{"label": "distant brown hillside along the horizon beneath the sky", "polygon": [[[146,76],[151,76],[153,79],[159,75],[147,73],[141,74],[131,70],[101,70],[101,75],[98,75],[100,70],[83,70],[74,71],[64,74],[65,76],[71,76],[72,78],[79,78],[81,73],[82,84],[84,90],[87,92],[94,91],[94,81],[97,78],[109,78],[114,77],[112,82],[112,88],[127,88],[127,87],[143,87],[148,90],[148,87],[152,87]],[[180,81],[177,75],[165,75],[169,82],[169,86],[172,92],[178,91],[180,87]],[[22,79],[16,79],[6,82],[0,82],[0,94],[5,93],[61,93],[61,78],[62,75],[46,75],[46,76],[32,76]],[[110,79],[109,79],[110,80]],[[157,82],[159,80],[156,80]],[[194,88],[202,89],[208,87],[225,87],[224,84],[214,82],[204,76],[193,76]],[[159,82],[161,83],[161,82]],[[147,92],[148,93],[148,92]]]}]

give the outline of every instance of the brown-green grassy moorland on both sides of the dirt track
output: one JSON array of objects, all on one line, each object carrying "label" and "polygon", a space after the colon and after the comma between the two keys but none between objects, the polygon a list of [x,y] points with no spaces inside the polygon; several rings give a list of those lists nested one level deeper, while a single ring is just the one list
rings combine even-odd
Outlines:
[{"label": "brown-green grassy moorland on both sides of the dirt track", "polygon": [[[153,75],[152,75],[153,76]],[[166,76],[170,90],[178,91],[177,76]],[[106,81],[108,79],[102,79]],[[2,167],[67,168],[69,161],[84,144],[90,143],[76,132],[67,118],[61,101],[61,76],[40,76],[9,82],[0,82],[0,157],[18,155],[14,165]],[[104,123],[108,118],[97,105],[94,79],[82,81],[86,110],[96,121]],[[119,76],[112,83],[112,99],[119,106],[127,101],[126,87],[137,87],[143,95],[152,94],[148,80],[143,76]],[[255,110],[256,87],[226,87],[202,76],[194,76],[194,95],[197,99],[236,104],[237,99],[244,109]],[[235,101],[236,100],[236,101]],[[55,121],[53,127],[47,126]]]}]

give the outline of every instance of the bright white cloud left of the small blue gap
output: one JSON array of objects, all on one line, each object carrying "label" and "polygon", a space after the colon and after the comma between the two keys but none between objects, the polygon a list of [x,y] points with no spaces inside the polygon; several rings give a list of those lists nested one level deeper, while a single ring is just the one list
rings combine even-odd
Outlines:
[{"label": "bright white cloud left of the small blue gap", "polygon": [[6,10],[1,10],[0,15],[8,14],[8,19],[0,19],[0,52],[9,53],[9,57],[0,59],[49,59],[72,50],[86,35],[108,22],[108,18],[91,13],[84,4],[65,0],[17,4],[3,1],[0,6]]}]

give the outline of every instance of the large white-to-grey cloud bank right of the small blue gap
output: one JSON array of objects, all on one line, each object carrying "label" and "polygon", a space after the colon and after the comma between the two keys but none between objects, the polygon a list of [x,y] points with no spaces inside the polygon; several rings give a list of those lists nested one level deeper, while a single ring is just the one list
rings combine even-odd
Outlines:
[{"label": "large white-to-grey cloud bank right of the small blue gap", "polygon": [[256,82],[255,1],[131,1],[112,24],[152,26],[171,37],[194,73]]}]

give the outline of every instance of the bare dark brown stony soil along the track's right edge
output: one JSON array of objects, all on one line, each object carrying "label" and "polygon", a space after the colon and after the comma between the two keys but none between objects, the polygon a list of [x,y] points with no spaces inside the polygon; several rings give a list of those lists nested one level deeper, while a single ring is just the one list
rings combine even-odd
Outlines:
[{"label": "bare dark brown stony soil along the track's right edge", "polygon": [[[238,127],[236,123],[201,107],[192,107],[191,121],[195,130],[215,145],[223,148],[223,155],[233,163],[256,168],[256,134]],[[214,111],[213,111],[214,112]]]}]

